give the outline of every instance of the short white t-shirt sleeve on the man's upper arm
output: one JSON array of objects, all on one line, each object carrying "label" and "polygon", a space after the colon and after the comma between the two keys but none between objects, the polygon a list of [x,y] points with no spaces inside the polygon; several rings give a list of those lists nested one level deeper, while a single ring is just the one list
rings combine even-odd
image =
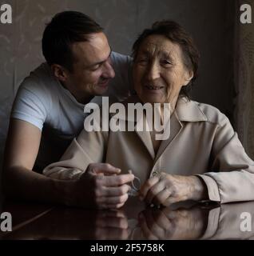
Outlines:
[{"label": "short white t-shirt sleeve on the man's upper arm", "polygon": [[18,93],[14,100],[14,105],[10,114],[10,118],[16,118],[37,126],[42,130],[43,124],[46,121],[46,95],[42,91],[34,90],[26,86],[26,80],[19,87]]}]

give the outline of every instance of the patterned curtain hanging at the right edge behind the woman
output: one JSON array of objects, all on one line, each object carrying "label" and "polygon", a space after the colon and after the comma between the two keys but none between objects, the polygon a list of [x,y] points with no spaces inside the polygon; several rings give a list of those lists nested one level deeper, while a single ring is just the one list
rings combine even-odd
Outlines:
[{"label": "patterned curtain hanging at the right edge behind the woman", "polygon": [[249,4],[254,8],[254,0],[239,0],[236,22],[236,130],[244,149],[254,159],[254,20],[251,24],[240,22],[240,6]]}]

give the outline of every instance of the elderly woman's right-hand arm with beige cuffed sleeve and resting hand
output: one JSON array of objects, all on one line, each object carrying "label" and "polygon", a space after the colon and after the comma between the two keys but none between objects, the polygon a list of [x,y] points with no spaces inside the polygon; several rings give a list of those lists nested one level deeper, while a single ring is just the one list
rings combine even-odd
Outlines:
[{"label": "elderly woman's right-hand arm with beige cuffed sleeve and resting hand", "polygon": [[150,178],[141,188],[141,199],[165,206],[189,199],[221,203],[254,200],[254,162],[226,117],[216,128],[210,159],[211,172],[192,176],[163,173]]}]

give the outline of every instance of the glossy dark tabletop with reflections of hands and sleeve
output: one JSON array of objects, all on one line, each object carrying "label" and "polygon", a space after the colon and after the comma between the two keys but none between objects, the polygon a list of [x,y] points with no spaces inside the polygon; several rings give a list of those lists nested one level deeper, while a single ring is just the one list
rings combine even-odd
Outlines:
[{"label": "glossy dark tabletop with reflections of hands and sleeve", "polygon": [[[8,210],[8,207],[6,208]],[[2,239],[252,239],[240,230],[243,212],[254,217],[254,202],[203,205],[193,202],[151,208],[137,199],[121,210],[14,205],[14,229]],[[43,210],[42,213],[39,210]],[[26,213],[24,215],[24,213]],[[34,215],[33,215],[34,214]],[[18,219],[18,216],[21,215]]]}]

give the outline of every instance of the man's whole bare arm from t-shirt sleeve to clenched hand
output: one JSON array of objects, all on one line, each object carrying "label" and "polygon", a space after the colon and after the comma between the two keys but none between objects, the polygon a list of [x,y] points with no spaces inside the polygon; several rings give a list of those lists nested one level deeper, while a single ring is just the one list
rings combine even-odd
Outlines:
[{"label": "man's whole bare arm from t-shirt sleeve to clenched hand", "polygon": [[32,171],[41,135],[41,130],[28,122],[10,120],[3,172],[7,198],[102,209],[123,206],[128,198],[126,183],[133,180],[133,175],[101,175],[119,173],[108,164],[92,164],[79,179],[67,181]]}]

